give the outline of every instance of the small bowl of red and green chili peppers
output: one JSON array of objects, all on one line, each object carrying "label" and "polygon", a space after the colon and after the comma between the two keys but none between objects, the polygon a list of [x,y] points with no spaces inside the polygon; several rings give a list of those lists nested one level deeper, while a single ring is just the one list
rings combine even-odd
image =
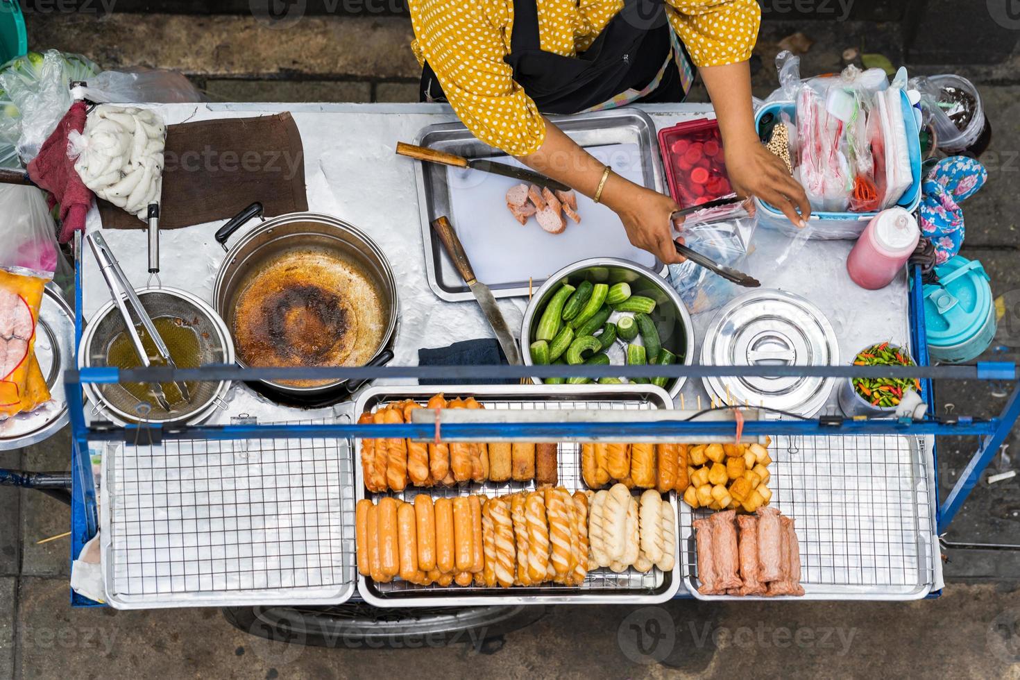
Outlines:
[{"label": "small bowl of red and green chili peppers", "polygon": [[[907,350],[878,343],[854,357],[855,366],[913,366]],[[839,408],[848,417],[891,415],[908,389],[921,391],[916,378],[848,378],[839,388]]]}]

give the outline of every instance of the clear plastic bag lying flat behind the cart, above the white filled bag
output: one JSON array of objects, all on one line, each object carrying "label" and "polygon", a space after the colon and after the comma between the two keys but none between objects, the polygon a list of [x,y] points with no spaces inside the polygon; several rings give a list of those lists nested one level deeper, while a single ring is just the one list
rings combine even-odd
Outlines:
[{"label": "clear plastic bag lying flat behind the cart, above the white filled bag", "polygon": [[71,90],[75,99],[92,102],[201,102],[202,93],[183,73],[139,66],[122,71],[106,70],[90,77],[85,87]]}]

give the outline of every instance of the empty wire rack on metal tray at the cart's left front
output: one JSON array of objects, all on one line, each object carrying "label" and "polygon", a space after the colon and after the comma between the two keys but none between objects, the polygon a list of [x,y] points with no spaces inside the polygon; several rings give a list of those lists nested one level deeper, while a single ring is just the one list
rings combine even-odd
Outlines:
[{"label": "empty wire rack on metal tray at the cart's left front", "polygon": [[103,480],[114,607],[337,604],[354,590],[344,439],[113,443]]}]

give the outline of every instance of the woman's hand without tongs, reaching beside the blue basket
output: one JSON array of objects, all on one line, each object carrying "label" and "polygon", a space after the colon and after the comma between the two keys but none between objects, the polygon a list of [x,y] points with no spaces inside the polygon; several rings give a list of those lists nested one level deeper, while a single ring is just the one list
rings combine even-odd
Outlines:
[{"label": "woman's hand without tongs, reaching beside the blue basket", "polygon": [[811,204],[804,187],[794,179],[782,160],[757,138],[724,145],[726,174],[738,196],[756,196],[781,210],[798,226],[807,226]]}]

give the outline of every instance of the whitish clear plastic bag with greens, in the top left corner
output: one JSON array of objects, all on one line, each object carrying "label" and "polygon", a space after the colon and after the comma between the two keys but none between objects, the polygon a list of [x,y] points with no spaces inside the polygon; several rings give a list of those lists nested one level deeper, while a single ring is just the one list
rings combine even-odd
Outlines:
[{"label": "whitish clear plastic bag with greens, in the top left corner", "polygon": [[[86,57],[57,50],[8,61],[0,67],[0,90],[7,97],[0,111],[0,140],[8,145],[14,141],[14,153],[24,163],[32,161],[70,108],[68,82],[97,70]],[[0,149],[0,155],[10,159],[10,147]]]}]

